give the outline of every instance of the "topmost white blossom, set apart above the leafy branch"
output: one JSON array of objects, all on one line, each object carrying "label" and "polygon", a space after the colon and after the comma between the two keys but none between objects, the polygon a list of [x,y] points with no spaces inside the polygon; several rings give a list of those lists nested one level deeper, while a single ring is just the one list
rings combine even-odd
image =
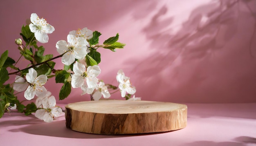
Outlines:
[{"label": "topmost white blossom, set apart above the leafy branch", "polygon": [[45,19],[40,19],[36,13],[31,13],[30,21],[29,29],[35,34],[36,40],[40,43],[47,43],[49,40],[47,33],[52,33],[55,30],[54,27]]}]

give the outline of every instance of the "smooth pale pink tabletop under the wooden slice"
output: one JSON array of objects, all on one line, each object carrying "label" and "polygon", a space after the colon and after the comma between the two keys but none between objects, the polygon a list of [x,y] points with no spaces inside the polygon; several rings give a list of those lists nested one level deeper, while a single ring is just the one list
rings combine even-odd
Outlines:
[{"label": "smooth pale pink tabletop under the wooden slice", "polygon": [[[64,105],[63,105],[64,106]],[[256,103],[187,104],[187,127],[166,133],[94,135],[13,111],[0,119],[1,146],[256,146]]]}]

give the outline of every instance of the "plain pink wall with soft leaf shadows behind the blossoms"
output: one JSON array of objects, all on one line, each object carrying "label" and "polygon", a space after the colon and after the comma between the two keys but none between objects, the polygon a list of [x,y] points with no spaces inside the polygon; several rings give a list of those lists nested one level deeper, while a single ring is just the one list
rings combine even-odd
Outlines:
[{"label": "plain pink wall with soft leaf shadows behind the blossoms", "polygon": [[[42,44],[54,56],[56,42],[69,31],[97,30],[101,43],[119,33],[125,49],[99,50],[99,78],[117,85],[115,76],[123,69],[142,100],[256,102],[255,6],[255,0],[2,0],[0,53],[8,49],[11,58],[19,58],[14,40],[37,13],[55,27]],[[61,60],[55,61],[62,69]],[[61,85],[50,79],[45,86],[58,99]],[[80,88],[72,89],[60,102],[89,100],[80,94]]]}]

